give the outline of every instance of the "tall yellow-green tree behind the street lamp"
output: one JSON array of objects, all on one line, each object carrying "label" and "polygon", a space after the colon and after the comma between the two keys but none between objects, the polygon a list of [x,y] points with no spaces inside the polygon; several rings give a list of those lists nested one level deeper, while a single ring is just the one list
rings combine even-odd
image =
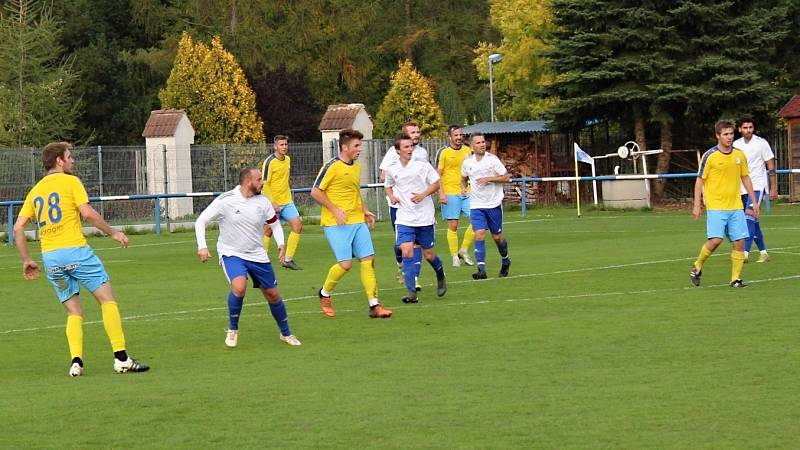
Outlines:
[{"label": "tall yellow-green tree behind the street lamp", "polygon": [[547,37],[553,31],[549,1],[491,0],[492,24],[502,35],[500,45],[481,42],[472,63],[482,80],[489,79],[489,55],[500,53],[501,64],[493,66],[496,115],[501,119],[539,118],[552,105],[541,97],[541,87],[552,73],[546,58]]}]

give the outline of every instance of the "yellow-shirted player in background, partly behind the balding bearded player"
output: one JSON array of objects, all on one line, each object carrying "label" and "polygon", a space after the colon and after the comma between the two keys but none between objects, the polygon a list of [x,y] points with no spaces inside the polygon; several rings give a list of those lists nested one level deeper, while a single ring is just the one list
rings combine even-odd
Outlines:
[{"label": "yellow-shirted player in background, partly behind the balding bearded player", "polygon": [[[275,212],[284,222],[289,222],[292,231],[286,240],[286,257],[281,265],[287,269],[302,270],[294,262],[294,254],[300,243],[300,233],[303,232],[303,221],[300,212],[292,200],[292,190],[289,185],[291,172],[291,158],[286,152],[289,150],[289,138],[279,134],[275,136],[272,147],[275,152],[261,163],[261,178],[264,180],[263,194],[269,198]],[[264,236],[264,248],[269,247],[271,230]]]}]

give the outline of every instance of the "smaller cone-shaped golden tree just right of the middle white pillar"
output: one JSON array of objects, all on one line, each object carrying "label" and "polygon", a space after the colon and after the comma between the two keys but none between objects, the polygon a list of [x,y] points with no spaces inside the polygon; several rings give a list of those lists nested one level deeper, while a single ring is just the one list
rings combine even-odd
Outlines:
[{"label": "smaller cone-shaped golden tree just right of the middle white pillar", "polygon": [[416,122],[425,136],[442,134],[445,129],[433,86],[417,72],[411,61],[404,60],[392,74],[389,92],[375,115],[375,135],[394,136],[409,121]]}]

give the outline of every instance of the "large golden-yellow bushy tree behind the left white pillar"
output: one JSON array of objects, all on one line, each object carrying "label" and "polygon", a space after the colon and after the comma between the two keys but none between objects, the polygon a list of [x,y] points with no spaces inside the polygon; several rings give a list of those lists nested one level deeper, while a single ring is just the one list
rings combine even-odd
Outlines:
[{"label": "large golden-yellow bushy tree behind the left white pillar", "polygon": [[263,124],[244,71],[219,37],[211,46],[183,33],[162,108],[186,111],[198,143],[263,143]]}]

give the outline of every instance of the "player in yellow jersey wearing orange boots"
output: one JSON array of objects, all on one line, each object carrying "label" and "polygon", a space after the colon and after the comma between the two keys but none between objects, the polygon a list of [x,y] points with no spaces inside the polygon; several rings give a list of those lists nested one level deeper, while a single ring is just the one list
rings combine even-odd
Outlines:
[{"label": "player in yellow jersey wearing orange boots", "polygon": [[361,199],[361,165],[357,160],[363,138],[356,130],[340,131],[339,156],[322,166],[311,188],[311,197],[322,206],[320,224],[336,257],[336,264],[328,270],[319,290],[320,307],[328,317],[336,315],[331,293],[353,266],[353,257],[361,261],[361,284],[367,293],[369,316],[392,316],[392,311],[383,308],[378,300],[375,250],[369,233],[375,226],[375,214]]}]

